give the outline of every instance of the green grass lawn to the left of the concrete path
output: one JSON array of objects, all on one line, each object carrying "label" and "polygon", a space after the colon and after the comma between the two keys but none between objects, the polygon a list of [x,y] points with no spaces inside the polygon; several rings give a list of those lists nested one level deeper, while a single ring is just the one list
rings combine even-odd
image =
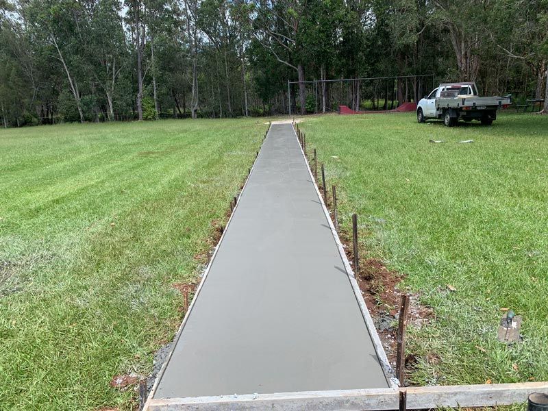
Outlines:
[{"label": "green grass lawn to the left of the concrete path", "polygon": [[0,130],[0,408],[132,406],[264,119]]}]

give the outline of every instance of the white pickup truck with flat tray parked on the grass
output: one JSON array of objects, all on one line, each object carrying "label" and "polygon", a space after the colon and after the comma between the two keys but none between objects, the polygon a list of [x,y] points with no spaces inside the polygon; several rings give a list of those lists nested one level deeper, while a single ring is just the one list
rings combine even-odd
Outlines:
[{"label": "white pickup truck with flat tray parked on the grass", "polygon": [[510,103],[510,97],[478,97],[474,82],[444,83],[419,101],[416,120],[424,123],[427,119],[443,119],[447,127],[457,125],[459,119],[491,125],[497,119],[497,110]]}]

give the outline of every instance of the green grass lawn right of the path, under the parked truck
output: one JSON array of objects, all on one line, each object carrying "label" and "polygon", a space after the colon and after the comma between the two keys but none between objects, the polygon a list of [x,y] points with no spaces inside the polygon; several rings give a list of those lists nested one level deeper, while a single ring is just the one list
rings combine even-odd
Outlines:
[{"label": "green grass lawn right of the path, under the parked truck", "polygon": [[[434,308],[410,329],[410,382],[548,380],[548,116],[448,128],[414,114],[332,115],[301,129],[338,186],[341,224],[357,212],[367,255]],[[501,308],[523,315],[523,342],[497,342]]]}]

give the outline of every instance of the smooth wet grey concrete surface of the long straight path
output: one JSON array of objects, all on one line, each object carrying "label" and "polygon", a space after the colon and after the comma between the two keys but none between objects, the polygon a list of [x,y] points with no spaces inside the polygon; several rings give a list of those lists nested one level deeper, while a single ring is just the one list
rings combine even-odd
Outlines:
[{"label": "smooth wet grey concrete surface of the long straight path", "polygon": [[289,124],[272,125],[154,398],[386,388]]}]

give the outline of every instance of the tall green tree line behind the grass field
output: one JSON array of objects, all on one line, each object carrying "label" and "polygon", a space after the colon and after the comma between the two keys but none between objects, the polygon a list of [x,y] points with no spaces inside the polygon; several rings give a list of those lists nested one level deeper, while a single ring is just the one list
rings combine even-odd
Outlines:
[{"label": "tall green tree line behind the grass field", "polygon": [[[548,0],[0,0],[0,30],[3,127],[334,110],[336,83],[311,79],[548,93]],[[343,94],[429,91],[405,78]]]}]

